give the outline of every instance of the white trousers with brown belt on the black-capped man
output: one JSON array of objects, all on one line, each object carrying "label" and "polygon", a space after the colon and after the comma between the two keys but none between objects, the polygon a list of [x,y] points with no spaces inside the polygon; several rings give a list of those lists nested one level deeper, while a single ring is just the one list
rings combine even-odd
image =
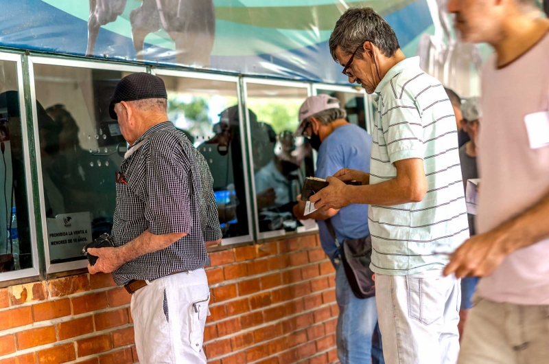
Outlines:
[{"label": "white trousers with brown belt on the black-capped man", "polygon": [[206,364],[209,315],[204,269],[167,275],[132,295],[135,346],[141,364]]}]

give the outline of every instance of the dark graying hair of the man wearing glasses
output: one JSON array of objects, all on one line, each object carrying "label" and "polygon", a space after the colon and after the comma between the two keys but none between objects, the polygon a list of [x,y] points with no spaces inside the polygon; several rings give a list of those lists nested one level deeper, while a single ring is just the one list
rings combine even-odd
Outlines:
[{"label": "dark graying hair of the man wearing glasses", "polygon": [[[373,8],[351,8],[343,13],[331,33],[331,56],[338,62],[338,46],[344,54],[353,54],[366,41],[373,43],[386,57],[392,57],[399,49],[395,31]],[[363,52],[364,49],[359,49],[355,57],[362,59]]]}]

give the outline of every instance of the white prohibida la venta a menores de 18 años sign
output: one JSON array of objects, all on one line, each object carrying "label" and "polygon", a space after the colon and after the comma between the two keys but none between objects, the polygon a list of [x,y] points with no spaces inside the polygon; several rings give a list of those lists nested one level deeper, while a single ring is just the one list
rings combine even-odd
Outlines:
[{"label": "white prohibida la venta a menores de 18 a\u00f1os sign", "polygon": [[60,214],[47,219],[49,260],[80,258],[82,248],[91,242],[91,217],[89,212]]}]

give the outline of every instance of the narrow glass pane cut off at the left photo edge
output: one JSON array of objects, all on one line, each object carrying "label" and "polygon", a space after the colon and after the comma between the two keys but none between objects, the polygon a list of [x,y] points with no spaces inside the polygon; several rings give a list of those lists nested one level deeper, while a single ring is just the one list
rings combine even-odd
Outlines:
[{"label": "narrow glass pane cut off at the left photo edge", "polygon": [[0,60],[0,272],[32,268],[16,62]]}]

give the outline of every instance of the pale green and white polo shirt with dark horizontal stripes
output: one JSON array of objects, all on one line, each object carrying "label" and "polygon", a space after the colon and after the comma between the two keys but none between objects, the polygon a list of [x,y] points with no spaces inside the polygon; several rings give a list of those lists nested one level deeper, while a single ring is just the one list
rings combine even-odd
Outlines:
[{"label": "pale green and white polo shirt with dark horizontal stripes", "polygon": [[370,205],[371,268],[385,275],[442,269],[467,238],[467,210],[456,118],[441,83],[419,68],[419,57],[395,65],[375,89],[370,184],[393,179],[395,161],[423,159],[428,191],[420,203]]}]

